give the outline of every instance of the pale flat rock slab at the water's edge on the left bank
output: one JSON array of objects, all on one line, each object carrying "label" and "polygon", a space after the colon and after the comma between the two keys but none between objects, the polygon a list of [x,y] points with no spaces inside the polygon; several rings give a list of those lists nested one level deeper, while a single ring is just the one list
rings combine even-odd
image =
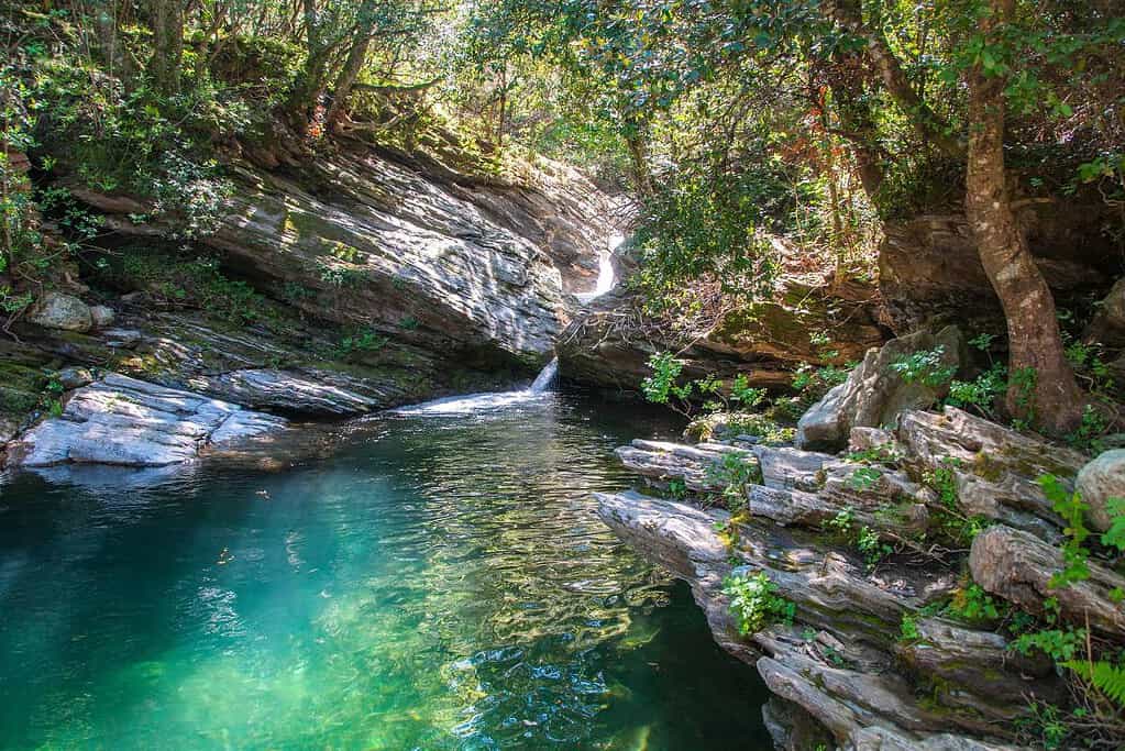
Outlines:
[{"label": "pale flat rock slab at the water's edge on the left bank", "polygon": [[8,461],[21,467],[164,467],[287,424],[228,401],[109,373],[71,392],[60,417],[10,444]]}]

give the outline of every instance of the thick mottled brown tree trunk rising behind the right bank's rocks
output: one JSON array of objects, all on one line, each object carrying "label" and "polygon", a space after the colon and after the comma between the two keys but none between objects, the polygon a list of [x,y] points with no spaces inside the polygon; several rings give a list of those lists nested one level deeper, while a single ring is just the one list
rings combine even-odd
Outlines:
[{"label": "thick mottled brown tree trunk rising behind the right bank's rocks", "polygon": [[[1012,2],[992,0],[987,26],[1010,19]],[[979,66],[969,74],[965,214],[1008,322],[1008,409],[1063,433],[1081,419],[1082,393],[1063,352],[1054,298],[1011,209],[1004,170],[1005,85],[1004,76],[986,76]]]}]

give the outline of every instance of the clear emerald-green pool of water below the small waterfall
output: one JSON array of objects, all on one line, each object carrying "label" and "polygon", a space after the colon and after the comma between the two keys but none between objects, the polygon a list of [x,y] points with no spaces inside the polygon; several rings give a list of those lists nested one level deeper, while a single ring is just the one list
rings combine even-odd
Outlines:
[{"label": "clear emerald-green pool of water below the small waterfall", "polygon": [[11,478],[0,747],[770,748],[754,671],[588,497],[668,425],[552,395],[338,433],[284,469]]}]

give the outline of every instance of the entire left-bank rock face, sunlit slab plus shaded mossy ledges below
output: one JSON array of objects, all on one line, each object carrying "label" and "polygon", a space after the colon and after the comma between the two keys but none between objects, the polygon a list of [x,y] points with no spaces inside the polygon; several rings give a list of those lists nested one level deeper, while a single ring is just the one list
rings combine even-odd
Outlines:
[{"label": "entire left-bank rock face, sunlit slab plus shaded mossy ledges below", "polygon": [[52,374],[73,367],[296,417],[530,378],[593,287],[609,199],[546,162],[519,182],[404,162],[233,162],[218,226],[186,246],[174,219],[135,220],[145,202],[75,188],[112,245],[0,342],[0,437],[51,409],[89,422]]}]

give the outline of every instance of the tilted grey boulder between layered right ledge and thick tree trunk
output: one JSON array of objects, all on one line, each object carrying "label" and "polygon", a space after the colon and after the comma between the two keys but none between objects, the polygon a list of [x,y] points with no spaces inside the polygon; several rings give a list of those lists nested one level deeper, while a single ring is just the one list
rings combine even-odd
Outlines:
[{"label": "tilted grey boulder between layered right ledge and thick tree trunk", "polygon": [[964,337],[955,326],[937,334],[916,332],[868,350],[847,380],[829,390],[798,422],[798,446],[840,449],[853,427],[896,427],[903,411],[934,406],[946,387],[927,384],[925,379],[908,382],[892,365],[917,352],[932,351],[938,355],[933,363],[935,370],[956,372],[966,360],[964,350]]}]

